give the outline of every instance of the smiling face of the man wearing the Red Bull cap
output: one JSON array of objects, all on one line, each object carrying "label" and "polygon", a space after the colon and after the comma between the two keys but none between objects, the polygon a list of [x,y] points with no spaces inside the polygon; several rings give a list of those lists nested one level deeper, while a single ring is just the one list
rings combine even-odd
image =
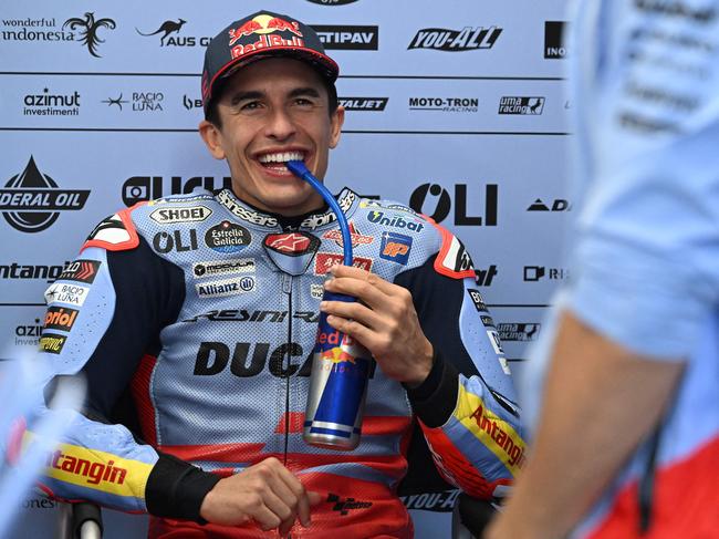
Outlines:
[{"label": "smiling face of the man wearing the Red Bull cap", "polygon": [[340,141],[344,110],[330,115],[326,89],[310,65],[275,58],[241,68],[222,90],[218,115],[221,127],[204,121],[200,134],[216,158],[227,159],[238,197],[285,216],[322,206],[321,196],[284,166],[304,160],[322,179]]}]

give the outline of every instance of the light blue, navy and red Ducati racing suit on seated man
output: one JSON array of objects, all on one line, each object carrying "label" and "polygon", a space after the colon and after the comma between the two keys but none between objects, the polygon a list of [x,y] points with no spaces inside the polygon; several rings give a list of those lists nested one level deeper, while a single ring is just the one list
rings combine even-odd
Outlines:
[{"label": "light blue, navy and red Ducati racing suit on seated man", "polygon": [[264,214],[226,189],[105,219],[45,292],[40,355],[56,376],[84,375],[88,395],[43,488],[147,511],[153,537],[273,537],[204,522],[199,508],[220,477],[274,456],[323,497],[293,538],[411,537],[396,488],[415,424],[449,483],[483,498],[510,484],[524,443],[469,255],[407,207],[348,189],[337,200],[355,266],[411,292],[436,351],[414,390],[374,370],[355,450],[302,439],[322,282],[342,260],[336,218]]}]

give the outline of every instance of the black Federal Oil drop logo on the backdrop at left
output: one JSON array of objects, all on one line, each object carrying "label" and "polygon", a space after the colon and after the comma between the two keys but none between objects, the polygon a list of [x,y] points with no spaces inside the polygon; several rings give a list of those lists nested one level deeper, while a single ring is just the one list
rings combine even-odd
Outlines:
[{"label": "black Federal Oil drop logo on the backdrop at left", "polygon": [[90,196],[86,189],[59,189],[54,179],[38,169],[32,156],[25,169],[4,187],[0,189],[0,211],[21,232],[50,228],[61,211],[81,210]]}]

